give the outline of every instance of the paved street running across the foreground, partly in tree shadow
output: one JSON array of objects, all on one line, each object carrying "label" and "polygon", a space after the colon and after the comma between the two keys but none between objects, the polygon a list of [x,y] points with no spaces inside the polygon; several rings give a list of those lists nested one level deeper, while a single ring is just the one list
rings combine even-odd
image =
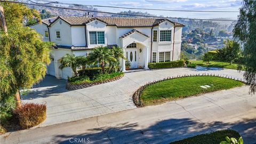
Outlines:
[{"label": "paved street running across the foreground, partly in tree shadow", "polygon": [[[184,71],[184,70],[183,70]],[[148,71],[147,71],[148,72]],[[155,73],[155,71],[150,71]],[[75,122],[6,133],[1,143],[169,143],[221,129],[256,142],[256,95],[249,86],[119,111]]]}]

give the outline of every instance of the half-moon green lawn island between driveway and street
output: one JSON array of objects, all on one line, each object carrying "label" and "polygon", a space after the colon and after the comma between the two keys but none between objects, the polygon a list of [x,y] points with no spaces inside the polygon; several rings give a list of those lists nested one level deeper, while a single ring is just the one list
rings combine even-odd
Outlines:
[{"label": "half-moon green lawn island between driveway and street", "polygon": [[[201,85],[211,87],[203,89]],[[140,95],[143,106],[157,105],[165,101],[186,98],[206,92],[231,89],[244,85],[233,79],[214,76],[192,76],[159,82],[146,87]]]}]

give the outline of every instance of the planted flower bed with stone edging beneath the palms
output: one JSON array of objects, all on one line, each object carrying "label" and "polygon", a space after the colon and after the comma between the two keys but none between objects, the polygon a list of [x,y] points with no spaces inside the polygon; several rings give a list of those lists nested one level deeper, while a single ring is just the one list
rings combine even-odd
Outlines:
[{"label": "planted flower bed with stone edging beneath the palms", "polygon": [[120,79],[124,76],[124,73],[111,73],[111,74],[100,74],[95,76],[94,78],[89,78],[87,76],[78,76],[72,77],[68,79],[68,83],[66,84],[67,90],[78,90],[84,89],[86,87],[113,82],[117,79]]}]

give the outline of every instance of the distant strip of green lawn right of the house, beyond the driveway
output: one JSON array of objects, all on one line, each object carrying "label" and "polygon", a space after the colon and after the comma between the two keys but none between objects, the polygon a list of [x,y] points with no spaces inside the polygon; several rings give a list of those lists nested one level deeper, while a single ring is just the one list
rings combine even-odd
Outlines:
[{"label": "distant strip of green lawn right of the house, beyond the driveway", "polygon": [[[232,65],[230,65],[229,62],[220,62],[220,61],[210,61],[208,65],[206,64],[206,62],[203,62],[202,60],[191,60],[191,62],[196,63],[197,66],[202,66],[202,67],[237,69],[237,66],[238,66],[236,63],[233,63]],[[242,70],[244,70],[244,66]]]}]

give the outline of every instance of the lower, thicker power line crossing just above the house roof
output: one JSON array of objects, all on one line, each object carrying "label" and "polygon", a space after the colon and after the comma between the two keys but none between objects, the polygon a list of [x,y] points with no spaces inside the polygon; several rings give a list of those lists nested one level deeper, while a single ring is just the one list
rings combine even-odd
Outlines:
[{"label": "lower, thicker power line crossing just above the house roof", "polygon": [[149,15],[121,14],[121,13],[114,13],[114,12],[81,10],[81,9],[74,9],[74,8],[70,8],[70,7],[58,7],[58,6],[50,6],[50,5],[42,5],[42,4],[30,4],[30,3],[22,3],[22,2],[14,2],[14,1],[2,1],[2,0],[0,0],[0,2],[27,4],[27,5],[37,5],[37,6],[52,7],[52,8],[56,8],[56,9],[65,9],[65,10],[75,10],[75,11],[85,11],[85,12],[95,12],[95,13],[107,13],[107,14],[117,14],[117,15],[129,15],[129,16],[134,16],[134,17],[165,18],[165,19],[185,19],[185,20],[209,20],[209,21],[237,21],[237,20],[229,20],[229,19],[215,19],[214,20],[214,19],[196,19],[196,18],[158,17],[158,16],[149,16]]}]

